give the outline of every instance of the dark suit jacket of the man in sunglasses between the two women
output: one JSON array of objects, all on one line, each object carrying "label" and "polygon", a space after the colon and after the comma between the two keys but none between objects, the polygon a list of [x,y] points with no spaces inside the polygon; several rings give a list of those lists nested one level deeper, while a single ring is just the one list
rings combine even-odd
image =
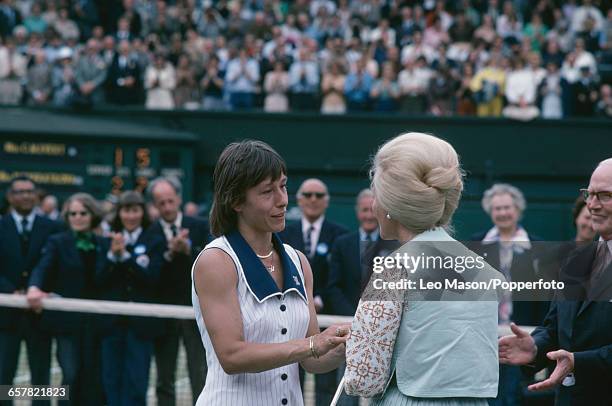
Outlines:
[{"label": "dark suit jacket of the man in sunglasses between the two women", "polygon": [[[316,249],[311,258],[308,258],[312,268],[313,276],[313,296],[321,296],[325,305],[323,313],[328,313],[330,309],[327,303],[327,282],[329,275],[328,257],[334,247],[336,238],[346,234],[348,230],[343,226],[332,223],[325,219],[319,233]],[[304,236],[302,234],[302,222],[290,224],[281,232],[281,240],[291,245],[293,248],[304,252]]]}]

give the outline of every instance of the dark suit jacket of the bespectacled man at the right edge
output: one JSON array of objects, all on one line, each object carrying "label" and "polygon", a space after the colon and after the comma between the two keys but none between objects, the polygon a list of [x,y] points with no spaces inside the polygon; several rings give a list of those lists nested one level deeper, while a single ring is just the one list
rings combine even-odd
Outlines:
[{"label": "dark suit jacket of the bespectacled man at the right edge", "polygon": [[612,399],[612,266],[588,287],[596,244],[577,249],[561,270],[563,295],[551,304],[532,336],[538,347],[535,368],[549,363],[546,353],[574,353],[575,385],[556,389],[556,405],[610,405]]}]

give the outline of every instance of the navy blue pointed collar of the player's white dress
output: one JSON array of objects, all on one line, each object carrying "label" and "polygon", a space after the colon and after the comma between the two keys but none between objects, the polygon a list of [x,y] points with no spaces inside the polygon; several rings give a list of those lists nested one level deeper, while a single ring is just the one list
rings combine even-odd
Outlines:
[{"label": "navy blue pointed collar of the player's white dress", "polygon": [[281,263],[283,264],[282,292],[278,289],[268,270],[257,258],[255,251],[253,251],[238,231],[227,234],[225,238],[238,256],[247,286],[259,303],[273,296],[285,295],[290,291],[297,292],[308,303],[304,289],[304,280],[291,258],[289,258],[278,235],[272,234],[272,244],[280,255]]}]

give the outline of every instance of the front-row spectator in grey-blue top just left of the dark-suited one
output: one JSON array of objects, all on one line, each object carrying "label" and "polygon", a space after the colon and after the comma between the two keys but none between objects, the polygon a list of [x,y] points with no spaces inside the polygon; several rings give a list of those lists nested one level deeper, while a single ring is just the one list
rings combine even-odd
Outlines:
[{"label": "front-row spectator in grey-blue top just left of the dark-suited one", "polygon": [[85,54],[77,61],[75,103],[78,107],[91,107],[104,101],[102,85],[106,81],[106,64],[98,54],[98,41],[87,41]]}]

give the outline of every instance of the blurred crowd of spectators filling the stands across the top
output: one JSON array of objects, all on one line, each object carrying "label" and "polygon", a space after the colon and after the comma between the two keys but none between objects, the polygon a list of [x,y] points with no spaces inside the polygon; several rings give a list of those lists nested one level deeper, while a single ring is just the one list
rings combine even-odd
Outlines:
[{"label": "blurred crowd of spectators filling the stands across the top", "polygon": [[0,0],[0,104],[612,115],[605,0]]}]

